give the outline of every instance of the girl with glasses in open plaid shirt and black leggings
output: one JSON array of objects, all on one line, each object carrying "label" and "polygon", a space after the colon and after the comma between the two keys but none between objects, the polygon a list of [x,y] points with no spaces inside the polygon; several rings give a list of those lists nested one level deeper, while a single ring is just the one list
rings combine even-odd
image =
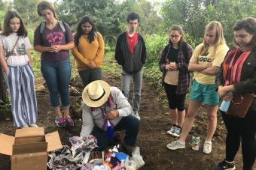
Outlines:
[{"label": "girl with glasses in open plaid shirt and black leggings", "polygon": [[180,136],[184,122],[184,101],[190,85],[187,66],[192,53],[192,47],[184,40],[184,31],[181,26],[173,25],[169,30],[169,44],[162,50],[159,61],[172,119],[172,127],[167,133],[172,136]]}]

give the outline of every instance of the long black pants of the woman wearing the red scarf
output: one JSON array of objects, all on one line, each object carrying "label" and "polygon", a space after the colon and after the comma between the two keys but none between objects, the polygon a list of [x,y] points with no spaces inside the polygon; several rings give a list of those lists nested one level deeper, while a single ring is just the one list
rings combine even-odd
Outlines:
[{"label": "long black pants of the woman wearing the red scarf", "polygon": [[252,169],[256,157],[256,112],[248,112],[245,118],[237,118],[221,112],[227,127],[226,160],[233,161],[242,141],[243,169]]}]

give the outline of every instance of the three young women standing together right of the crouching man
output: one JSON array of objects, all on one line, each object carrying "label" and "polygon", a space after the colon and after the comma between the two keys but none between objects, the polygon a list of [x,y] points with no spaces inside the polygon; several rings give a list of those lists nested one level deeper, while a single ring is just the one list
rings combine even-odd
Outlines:
[{"label": "three young women standing together right of the crouching man", "polygon": [[[219,98],[232,100],[233,93],[256,93],[254,74],[256,71],[256,19],[248,17],[236,22],[233,26],[235,47],[230,51],[224,40],[221,23],[210,22],[206,25],[203,43],[196,47],[191,58],[190,48],[185,49],[187,52],[184,48],[182,51],[181,44],[184,43],[184,39],[181,38],[183,37],[181,30],[178,25],[172,26],[169,31],[169,44],[163,49],[159,61],[172,118],[172,127],[167,133],[180,136],[177,141],[169,143],[167,148],[170,150],[185,148],[185,139],[193,126],[194,118],[199,112],[201,103],[205,103],[208,133],[203,152],[209,154],[212,151],[212,136],[217,126]],[[181,67],[181,53],[183,53],[183,67]],[[184,96],[178,89],[179,85],[184,83],[183,92],[184,94],[187,92],[188,86],[185,82],[189,81],[188,71],[194,72],[194,82],[190,92],[187,116],[184,120],[182,112]],[[245,118],[237,118],[221,112],[227,127],[226,158],[215,166],[216,170],[236,169],[234,158],[239,149],[240,140],[242,140],[243,169],[252,169],[256,157],[255,103],[254,97]],[[183,120],[184,124],[182,124]]]}]

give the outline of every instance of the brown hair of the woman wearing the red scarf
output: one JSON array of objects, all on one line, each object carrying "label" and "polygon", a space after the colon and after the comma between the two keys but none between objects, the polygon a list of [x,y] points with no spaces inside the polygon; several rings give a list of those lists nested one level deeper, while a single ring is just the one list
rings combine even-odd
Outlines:
[{"label": "brown hair of the woman wearing the red scarf", "polygon": [[253,34],[251,43],[249,43],[248,46],[256,48],[256,19],[253,17],[247,17],[236,21],[235,25],[233,25],[233,31],[239,31],[241,29],[244,29],[249,34]]}]

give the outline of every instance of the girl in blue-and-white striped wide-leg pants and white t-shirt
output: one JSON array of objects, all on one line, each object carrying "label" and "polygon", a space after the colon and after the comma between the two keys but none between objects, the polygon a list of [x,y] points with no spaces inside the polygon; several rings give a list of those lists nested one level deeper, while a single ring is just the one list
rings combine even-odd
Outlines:
[{"label": "girl in blue-and-white striped wide-leg pants and white t-shirt", "polygon": [[11,94],[11,112],[15,127],[38,127],[35,79],[31,67],[31,45],[20,14],[12,9],[5,14],[0,34],[0,63]]}]

